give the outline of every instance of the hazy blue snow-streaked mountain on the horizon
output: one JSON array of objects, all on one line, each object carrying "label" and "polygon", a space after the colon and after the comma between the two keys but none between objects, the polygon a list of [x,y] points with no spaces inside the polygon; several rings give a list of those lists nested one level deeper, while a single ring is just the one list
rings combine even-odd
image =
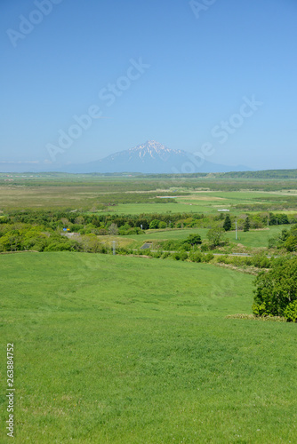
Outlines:
[{"label": "hazy blue snow-streaked mountain on the horizon", "polygon": [[2,172],[68,172],[68,173],[122,173],[139,172],[155,174],[179,174],[196,172],[229,172],[249,171],[251,168],[245,165],[229,166],[211,163],[201,160],[181,149],[171,149],[158,143],[156,140],[148,140],[124,151],[108,155],[101,160],[81,163],[54,165],[51,163],[0,163]]}]

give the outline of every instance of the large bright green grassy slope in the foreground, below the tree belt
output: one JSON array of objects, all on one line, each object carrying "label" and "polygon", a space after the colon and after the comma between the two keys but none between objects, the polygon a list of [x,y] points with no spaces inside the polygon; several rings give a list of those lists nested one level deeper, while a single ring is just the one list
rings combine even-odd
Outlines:
[{"label": "large bright green grassy slope in the foreground, below the tree belt", "polygon": [[296,442],[297,326],[225,318],[252,313],[251,275],[84,253],[0,264],[15,442]]}]

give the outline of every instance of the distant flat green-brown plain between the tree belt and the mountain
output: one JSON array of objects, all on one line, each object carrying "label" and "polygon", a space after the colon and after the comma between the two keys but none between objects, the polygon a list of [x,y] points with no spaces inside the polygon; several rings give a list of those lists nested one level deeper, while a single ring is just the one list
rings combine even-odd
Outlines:
[{"label": "distant flat green-brown plain between the tree belt and the mountain", "polygon": [[[165,196],[170,199],[164,199]],[[243,209],[289,212],[296,210],[296,206],[297,187],[293,179],[0,173],[3,211],[71,208],[117,214],[214,214],[228,209],[239,214]]]}]

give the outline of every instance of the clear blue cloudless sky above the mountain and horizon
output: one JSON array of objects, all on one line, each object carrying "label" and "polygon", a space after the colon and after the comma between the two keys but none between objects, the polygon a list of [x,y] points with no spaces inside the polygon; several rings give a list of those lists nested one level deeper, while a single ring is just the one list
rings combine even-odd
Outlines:
[{"label": "clear blue cloudless sky above the mountain and horizon", "polygon": [[211,144],[213,163],[297,168],[296,0],[0,8],[2,163],[84,163],[156,139]]}]

